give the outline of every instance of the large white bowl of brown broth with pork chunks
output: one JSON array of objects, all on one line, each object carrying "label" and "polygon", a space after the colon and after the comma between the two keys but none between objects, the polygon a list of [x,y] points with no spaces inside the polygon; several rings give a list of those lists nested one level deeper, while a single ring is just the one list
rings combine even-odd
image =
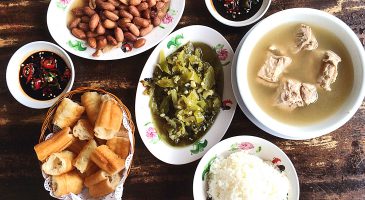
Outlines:
[{"label": "large white bowl of brown broth with pork chunks", "polygon": [[363,46],[350,27],[323,11],[294,8],[267,17],[247,35],[236,67],[242,110],[277,137],[330,133],[364,99]]}]

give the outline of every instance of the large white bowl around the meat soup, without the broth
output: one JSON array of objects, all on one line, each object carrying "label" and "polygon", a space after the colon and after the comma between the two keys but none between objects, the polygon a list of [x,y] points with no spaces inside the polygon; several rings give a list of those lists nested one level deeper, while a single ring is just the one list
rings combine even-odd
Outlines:
[{"label": "large white bowl around the meat soup, without the broth", "polygon": [[[279,122],[266,114],[255,102],[248,85],[247,66],[249,57],[255,45],[272,29],[286,23],[308,23],[323,27],[335,34],[351,52],[354,66],[354,86],[344,105],[332,116],[318,123],[305,126],[288,125]],[[356,34],[340,19],[323,11],[309,8],[295,8],[273,14],[255,26],[244,40],[237,59],[235,78],[237,81],[238,95],[243,99],[244,105],[253,122],[262,130],[286,139],[310,139],[330,133],[345,124],[360,107],[364,95],[365,53]]]}]

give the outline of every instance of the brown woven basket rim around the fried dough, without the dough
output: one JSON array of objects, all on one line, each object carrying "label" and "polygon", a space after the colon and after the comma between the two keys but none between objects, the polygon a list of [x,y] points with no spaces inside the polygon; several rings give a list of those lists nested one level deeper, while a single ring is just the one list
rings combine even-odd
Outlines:
[{"label": "brown woven basket rim around the fried dough, without the dough", "polygon": [[[131,145],[133,148],[130,148],[130,151],[131,151],[131,154],[132,154],[132,161],[131,161],[131,165],[133,163],[133,155],[134,155],[134,147],[135,147],[135,139],[134,139],[134,131],[135,131],[135,126],[134,126],[134,123],[133,123],[133,120],[132,120],[132,117],[131,117],[131,113],[130,111],[128,110],[128,108],[123,104],[123,102],[115,95],[105,91],[105,90],[102,90],[102,89],[99,89],[99,88],[92,88],[92,87],[80,87],[80,88],[77,88],[75,90],[72,90],[66,94],[64,94],[63,96],[61,96],[57,101],[56,103],[49,108],[48,112],[47,112],[47,115],[46,115],[46,118],[42,124],[42,129],[41,129],[41,135],[39,137],[39,143],[43,142],[47,136],[47,134],[49,133],[52,133],[53,132],[53,125],[52,125],[52,120],[53,120],[53,117],[55,115],[55,112],[57,110],[57,107],[58,105],[61,103],[61,101],[64,99],[64,98],[69,98],[69,99],[72,99],[73,101],[78,101],[80,102],[80,97],[81,97],[81,94],[85,93],[85,92],[98,92],[99,94],[108,94],[110,95],[111,97],[113,97],[119,104],[119,106],[122,108],[122,110],[125,112],[125,114],[127,115],[127,118],[128,118],[128,124],[129,124],[129,127],[131,128],[132,130],[132,141],[131,142]],[[131,170],[132,167],[129,167],[129,170],[126,174],[126,176],[128,177],[129,175],[129,172]],[[126,178],[127,178],[126,177]],[[125,179],[126,180],[126,179]],[[123,183],[124,184],[124,183]]]}]

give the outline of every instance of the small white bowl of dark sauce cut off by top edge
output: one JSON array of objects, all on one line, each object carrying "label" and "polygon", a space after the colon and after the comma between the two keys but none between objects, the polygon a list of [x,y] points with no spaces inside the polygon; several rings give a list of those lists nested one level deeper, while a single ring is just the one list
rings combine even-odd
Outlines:
[{"label": "small white bowl of dark sauce cut off by top edge", "polygon": [[267,11],[271,0],[205,0],[210,14],[219,22],[233,27],[250,25]]}]

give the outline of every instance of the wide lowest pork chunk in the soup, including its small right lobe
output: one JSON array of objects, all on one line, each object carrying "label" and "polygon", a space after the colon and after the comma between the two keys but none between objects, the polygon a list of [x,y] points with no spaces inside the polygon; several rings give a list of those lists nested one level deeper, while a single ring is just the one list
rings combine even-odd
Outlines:
[{"label": "wide lowest pork chunk in the soup, including its small right lobe", "polygon": [[278,88],[276,105],[292,111],[297,107],[307,106],[316,102],[318,93],[315,85],[301,83],[294,79],[286,79]]}]

